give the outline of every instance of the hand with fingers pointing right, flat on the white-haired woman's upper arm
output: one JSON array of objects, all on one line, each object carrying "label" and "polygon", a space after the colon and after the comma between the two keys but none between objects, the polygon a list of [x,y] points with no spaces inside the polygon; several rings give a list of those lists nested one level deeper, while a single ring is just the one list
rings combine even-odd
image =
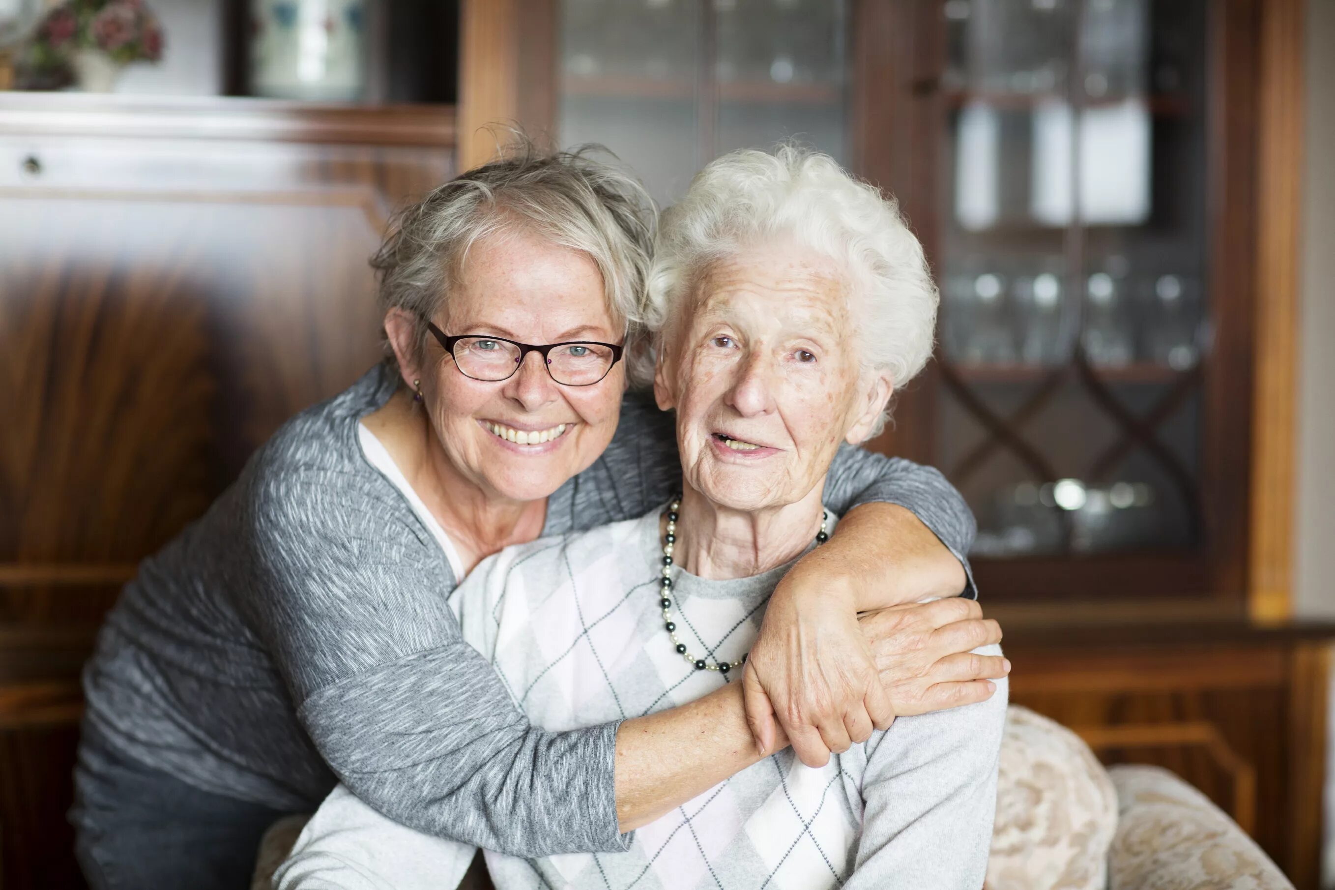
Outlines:
[{"label": "hand with fingers pointing right, flat on the white-haired woman's upper arm", "polygon": [[952,597],[894,605],[860,616],[896,716],[985,702],[989,678],[1011,672],[999,655],[975,655],[1001,641],[1001,625],[973,600]]}]

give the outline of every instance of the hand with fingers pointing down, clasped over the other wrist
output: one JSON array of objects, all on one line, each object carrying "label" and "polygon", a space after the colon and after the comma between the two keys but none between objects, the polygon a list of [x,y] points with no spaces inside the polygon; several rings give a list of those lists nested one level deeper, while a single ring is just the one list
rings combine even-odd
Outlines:
[{"label": "hand with fingers pointing down, clasped over the other wrist", "polygon": [[830,751],[889,727],[894,710],[873,652],[880,641],[862,632],[850,596],[832,591],[813,601],[780,584],[742,672],[760,754],[776,750],[781,727],[802,763],[825,766]]}]

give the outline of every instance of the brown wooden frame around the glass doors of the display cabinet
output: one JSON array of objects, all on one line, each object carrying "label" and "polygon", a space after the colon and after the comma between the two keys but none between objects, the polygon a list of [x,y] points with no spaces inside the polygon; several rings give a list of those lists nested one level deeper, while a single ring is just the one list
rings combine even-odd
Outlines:
[{"label": "brown wooden frame around the glass doors of the display cabinet", "polygon": [[[461,168],[482,127],[555,122],[558,0],[462,4]],[[893,187],[929,258],[940,255],[941,0],[857,0],[852,163]],[[976,561],[993,603],[1100,615],[1283,617],[1290,601],[1294,325],[1302,155],[1300,0],[1215,0],[1208,35],[1207,270],[1214,346],[1202,374],[1203,543],[1192,552]],[[943,367],[929,366],[874,446],[932,462]]]}]

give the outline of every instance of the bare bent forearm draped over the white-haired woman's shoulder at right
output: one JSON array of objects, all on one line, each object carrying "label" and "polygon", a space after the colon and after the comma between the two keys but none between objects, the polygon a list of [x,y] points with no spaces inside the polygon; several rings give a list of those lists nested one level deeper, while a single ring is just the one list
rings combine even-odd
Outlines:
[{"label": "bare bent forearm draped over the white-haired woman's shoulder at right", "polygon": [[[917,516],[897,504],[862,504],[785,579],[813,583],[856,612],[959,596],[968,579],[960,560]],[[798,588],[800,589],[800,588]]]}]

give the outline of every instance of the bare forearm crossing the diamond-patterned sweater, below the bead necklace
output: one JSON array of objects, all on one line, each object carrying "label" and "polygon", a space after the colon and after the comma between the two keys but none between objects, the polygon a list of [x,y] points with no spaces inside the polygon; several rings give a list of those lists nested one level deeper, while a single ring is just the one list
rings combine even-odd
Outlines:
[{"label": "bare forearm crossing the diamond-patterned sweater, below the bead necklace", "polygon": [[[774,750],[788,747],[782,732]],[[773,754],[768,751],[765,756]],[[740,682],[617,731],[617,818],[633,831],[762,759]]]}]

